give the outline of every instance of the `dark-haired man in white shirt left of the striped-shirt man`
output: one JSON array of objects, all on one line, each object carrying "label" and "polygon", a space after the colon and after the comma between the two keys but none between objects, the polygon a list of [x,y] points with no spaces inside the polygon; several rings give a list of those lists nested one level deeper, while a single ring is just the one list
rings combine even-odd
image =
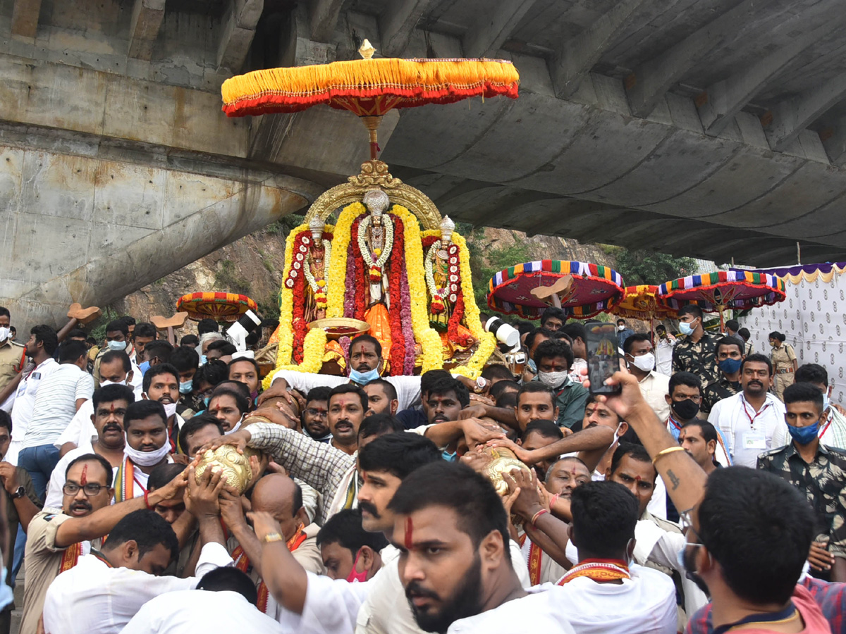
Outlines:
[{"label": "dark-haired man in white shirt left of the striped-shirt man", "polygon": [[52,358],[58,347],[58,336],[48,325],[36,325],[30,330],[30,341],[26,342],[26,356],[32,359],[36,367],[25,371],[24,378],[18,384],[12,406],[12,442],[8,445],[5,456],[7,462],[18,464],[18,454],[24,445],[26,428],[32,418],[32,408],[36,405],[36,391],[42,380],[46,380],[54,369],[58,368]]}]

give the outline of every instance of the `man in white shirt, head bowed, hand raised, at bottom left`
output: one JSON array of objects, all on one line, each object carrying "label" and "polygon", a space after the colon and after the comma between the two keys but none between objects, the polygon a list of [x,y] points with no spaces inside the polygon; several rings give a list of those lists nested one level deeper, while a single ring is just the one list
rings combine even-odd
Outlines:
[{"label": "man in white shirt, head bowed, hand raised, at bottom left", "polygon": [[224,481],[220,472],[203,476],[202,484],[196,484],[190,469],[190,495],[186,496],[188,510],[200,523],[203,547],[196,566],[198,577],[162,577],[179,555],[176,533],[155,511],[134,511],[115,525],[102,549],[81,557],[52,582],[44,601],[44,630],[118,634],[151,598],[196,588],[206,572],[231,565],[217,506]]}]

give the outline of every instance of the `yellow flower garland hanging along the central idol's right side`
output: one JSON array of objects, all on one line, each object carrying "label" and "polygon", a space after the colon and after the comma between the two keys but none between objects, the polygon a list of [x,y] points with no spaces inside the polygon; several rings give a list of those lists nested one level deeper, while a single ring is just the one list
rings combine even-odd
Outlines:
[{"label": "yellow flower garland hanging along the central idol's right side", "polygon": [[[443,367],[441,336],[429,325],[426,306],[426,271],[423,269],[423,243],[417,216],[402,205],[393,205],[391,213],[403,221],[405,239],[405,271],[409,277],[411,329],[423,348],[423,372]],[[418,298],[423,298],[420,301]]]}]

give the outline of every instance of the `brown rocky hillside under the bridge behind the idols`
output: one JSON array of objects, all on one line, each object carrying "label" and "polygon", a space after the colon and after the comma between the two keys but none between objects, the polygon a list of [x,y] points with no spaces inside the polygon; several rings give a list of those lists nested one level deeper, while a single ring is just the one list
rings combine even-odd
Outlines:
[{"label": "brown rocky hillside under the bridge behind the idols", "polygon": [[[170,315],[177,298],[187,292],[227,291],[249,295],[259,304],[262,317],[271,317],[282,282],[287,227],[275,223],[235,243],[174,271],[109,307],[115,314],[131,314],[137,320],[151,315]],[[520,261],[581,260],[613,265],[613,255],[595,244],[534,236],[505,229],[479,229],[468,236],[471,249],[484,260],[485,270],[497,270]],[[475,247],[475,249],[474,249]],[[189,322],[190,323],[190,322]],[[181,334],[186,334],[184,330]]]}]

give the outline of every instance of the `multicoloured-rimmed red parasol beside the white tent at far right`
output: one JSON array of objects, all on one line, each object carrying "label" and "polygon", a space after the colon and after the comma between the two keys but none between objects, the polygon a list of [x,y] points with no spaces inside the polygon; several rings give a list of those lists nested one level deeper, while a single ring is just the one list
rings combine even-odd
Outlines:
[{"label": "multicoloured-rimmed red parasol beside the white tent at far right", "polygon": [[769,273],[751,271],[714,271],[700,276],[680,277],[658,287],[659,301],[673,310],[695,303],[706,313],[720,314],[720,330],[724,330],[722,311],[748,310],[783,302],[784,281]]}]

